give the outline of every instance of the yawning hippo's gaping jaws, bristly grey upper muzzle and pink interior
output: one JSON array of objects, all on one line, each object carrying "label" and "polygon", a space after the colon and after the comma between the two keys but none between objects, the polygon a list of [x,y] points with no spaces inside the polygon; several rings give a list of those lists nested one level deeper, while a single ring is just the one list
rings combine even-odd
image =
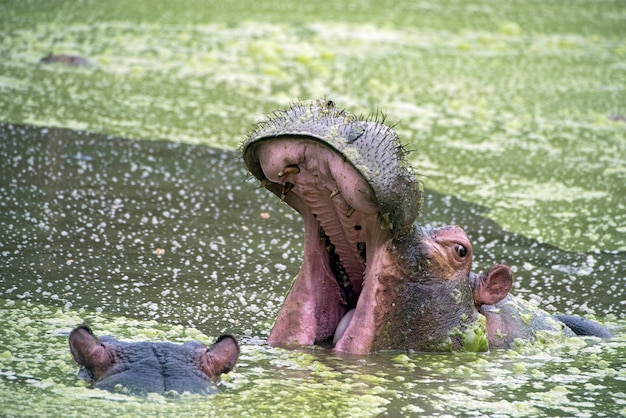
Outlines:
[{"label": "yawning hippo's gaping jaws, bristly grey upper muzzle and pink interior", "polygon": [[353,119],[316,105],[295,109],[308,125],[286,112],[244,144],[250,172],[301,214],[305,228],[302,265],[268,342],[365,353],[384,320],[381,283],[402,275],[389,242],[417,216],[419,190],[395,137],[381,135],[384,125],[361,122],[355,134]]}]

